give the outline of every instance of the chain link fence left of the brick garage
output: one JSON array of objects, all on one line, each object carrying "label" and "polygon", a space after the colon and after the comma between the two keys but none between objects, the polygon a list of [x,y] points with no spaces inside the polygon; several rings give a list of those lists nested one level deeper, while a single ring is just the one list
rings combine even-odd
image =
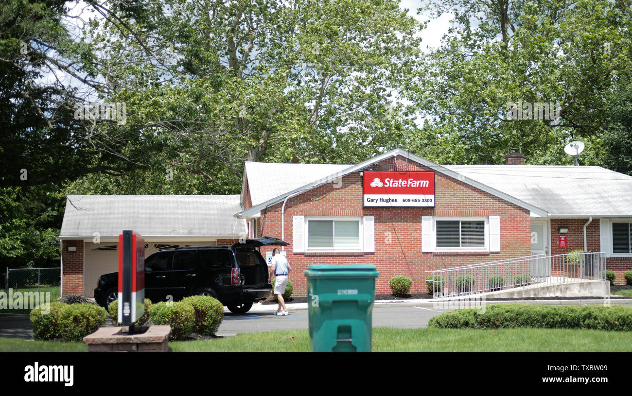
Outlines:
[{"label": "chain link fence left of the brick garage", "polygon": [[8,292],[50,292],[61,296],[61,268],[6,268],[4,289]]}]

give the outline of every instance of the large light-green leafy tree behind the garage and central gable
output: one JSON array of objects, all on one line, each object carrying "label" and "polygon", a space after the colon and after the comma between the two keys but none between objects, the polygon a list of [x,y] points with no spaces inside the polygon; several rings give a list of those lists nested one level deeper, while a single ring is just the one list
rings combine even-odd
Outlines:
[{"label": "large light-green leafy tree behind the garage and central gable", "polygon": [[105,43],[98,71],[130,127],[166,141],[152,174],[236,192],[244,160],[354,162],[415,131],[397,97],[421,26],[396,1],[114,4],[87,41]]}]

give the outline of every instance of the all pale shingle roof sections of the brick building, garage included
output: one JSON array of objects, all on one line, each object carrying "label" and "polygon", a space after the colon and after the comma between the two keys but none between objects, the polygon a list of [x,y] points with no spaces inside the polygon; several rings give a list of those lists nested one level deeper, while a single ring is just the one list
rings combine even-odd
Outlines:
[{"label": "all pale shingle roof sections of the brick building, garage included", "polygon": [[[253,205],[355,165],[246,162]],[[596,166],[445,165],[549,216],[632,216],[632,176]],[[60,237],[239,236],[239,195],[69,195]]]}]

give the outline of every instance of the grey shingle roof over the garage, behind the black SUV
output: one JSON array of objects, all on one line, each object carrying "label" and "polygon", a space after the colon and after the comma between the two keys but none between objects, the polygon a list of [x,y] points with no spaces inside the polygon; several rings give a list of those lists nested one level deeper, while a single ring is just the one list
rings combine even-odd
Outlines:
[{"label": "grey shingle roof over the garage, behind the black SUV", "polygon": [[60,237],[239,236],[239,195],[69,195]]}]

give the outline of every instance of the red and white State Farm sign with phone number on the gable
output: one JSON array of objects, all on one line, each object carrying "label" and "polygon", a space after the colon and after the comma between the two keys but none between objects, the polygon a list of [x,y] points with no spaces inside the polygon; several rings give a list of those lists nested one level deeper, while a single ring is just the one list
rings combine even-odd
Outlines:
[{"label": "red and white State Farm sign with phone number on the gable", "polygon": [[434,207],[434,172],[364,172],[365,207]]}]

